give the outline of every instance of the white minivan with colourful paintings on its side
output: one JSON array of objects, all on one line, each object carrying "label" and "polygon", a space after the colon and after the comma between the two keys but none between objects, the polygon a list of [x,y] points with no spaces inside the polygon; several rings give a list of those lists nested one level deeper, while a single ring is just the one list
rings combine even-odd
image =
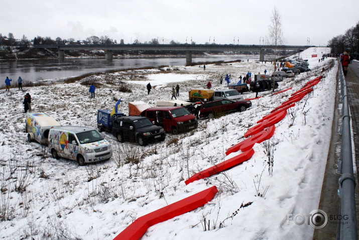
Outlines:
[{"label": "white minivan with colourful paintings on its side", "polygon": [[50,129],[49,152],[77,161],[80,166],[112,157],[111,145],[97,130],[86,127],[62,126]]}]

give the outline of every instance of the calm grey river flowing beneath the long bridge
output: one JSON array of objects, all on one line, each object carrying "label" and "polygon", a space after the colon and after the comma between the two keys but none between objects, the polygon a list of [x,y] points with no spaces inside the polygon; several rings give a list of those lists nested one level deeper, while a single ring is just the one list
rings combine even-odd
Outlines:
[{"label": "calm grey river flowing beneath the long bridge", "polygon": [[[192,62],[212,62],[212,61],[234,61],[242,59],[258,60],[259,55],[237,55],[237,56],[207,56],[192,57]],[[113,59],[106,61],[105,59],[28,59],[28,60],[12,60],[0,61],[0,75],[5,79],[7,76],[13,80],[19,76],[24,81],[39,80],[58,80],[68,77],[80,76],[91,72],[101,72],[113,69],[128,69],[139,67],[159,67],[159,66],[184,66],[186,64],[185,57],[177,58],[130,58],[130,59]]]}]

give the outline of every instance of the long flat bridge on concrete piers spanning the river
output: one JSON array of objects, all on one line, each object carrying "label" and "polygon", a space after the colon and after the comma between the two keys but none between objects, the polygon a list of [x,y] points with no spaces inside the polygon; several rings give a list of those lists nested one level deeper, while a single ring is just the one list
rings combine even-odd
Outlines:
[{"label": "long flat bridge on concrete piers spanning the river", "polygon": [[234,44],[74,44],[74,45],[35,45],[36,48],[57,48],[59,59],[64,59],[65,50],[105,50],[106,59],[112,60],[113,50],[133,51],[182,51],[186,52],[186,65],[192,64],[193,51],[218,52],[259,52],[260,61],[264,61],[265,50],[295,50],[303,51],[313,46],[287,45],[234,45]]}]

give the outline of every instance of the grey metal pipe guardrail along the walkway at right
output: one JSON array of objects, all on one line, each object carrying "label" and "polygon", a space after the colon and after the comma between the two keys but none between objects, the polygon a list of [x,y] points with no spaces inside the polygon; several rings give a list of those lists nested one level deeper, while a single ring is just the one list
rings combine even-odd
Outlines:
[{"label": "grey metal pipe guardrail along the walkway at right", "polygon": [[[340,197],[339,216],[336,232],[337,240],[357,239],[356,208],[355,208],[355,176],[353,174],[353,159],[351,148],[350,113],[347,95],[347,86],[341,64],[339,63],[342,124],[341,124],[341,150],[338,160],[337,174],[339,178],[338,195]],[[344,220],[345,219],[345,220]],[[341,222],[345,221],[345,222]],[[343,224],[340,224],[343,223]]]}]

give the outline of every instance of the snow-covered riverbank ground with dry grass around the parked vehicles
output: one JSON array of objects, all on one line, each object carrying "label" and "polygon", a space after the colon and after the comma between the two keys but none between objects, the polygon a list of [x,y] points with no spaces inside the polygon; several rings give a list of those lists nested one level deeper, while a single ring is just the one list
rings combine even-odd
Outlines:
[{"label": "snow-covered riverbank ground with dry grass around the parked vehicles", "polygon": [[[225,89],[220,76],[234,81],[248,71],[256,74],[270,62],[202,66],[173,66],[103,74],[91,79],[102,83],[96,98],[79,82],[38,86],[23,91],[2,90],[0,101],[0,237],[2,239],[112,239],[131,222],[147,213],[215,185],[219,191],[205,206],[156,224],[142,239],[308,239],[313,228],[287,220],[287,214],[307,215],[318,208],[330,142],[336,93],[337,63],[333,58],[318,62],[328,48],[311,48],[300,54],[312,71],[285,79],[272,95],[260,92],[253,107],[214,119],[200,119],[198,129],[167,134],[166,141],[140,147],[113,145],[111,160],[80,167],[76,162],[53,159],[46,146],[28,143],[24,133],[23,95],[30,92],[33,111],[47,112],[62,125],[96,128],[97,109],[111,109],[122,98],[121,110],[128,113],[129,101],[169,99],[172,87],[180,85],[181,100],[188,90]],[[320,73],[321,69],[333,68]],[[229,159],[224,152],[243,139],[244,133],[272,109],[288,99],[308,80],[323,75],[314,91],[288,110],[276,124],[274,136],[254,146],[247,162],[213,177],[185,185],[194,173]],[[82,80],[85,81],[86,79]],[[153,88],[148,95],[146,84]],[[132,92],[120,92],[126,84]],[[254,97],[247,92],[244,98]],[[268,164],[272,154],[273,166]],[[270,172],[273,171],[272,174]],[[241,204],[252,202],[240,208]],[[237,211],[237,213],[235,213]],[[204,222],[210,222],[204,230]]]}]

